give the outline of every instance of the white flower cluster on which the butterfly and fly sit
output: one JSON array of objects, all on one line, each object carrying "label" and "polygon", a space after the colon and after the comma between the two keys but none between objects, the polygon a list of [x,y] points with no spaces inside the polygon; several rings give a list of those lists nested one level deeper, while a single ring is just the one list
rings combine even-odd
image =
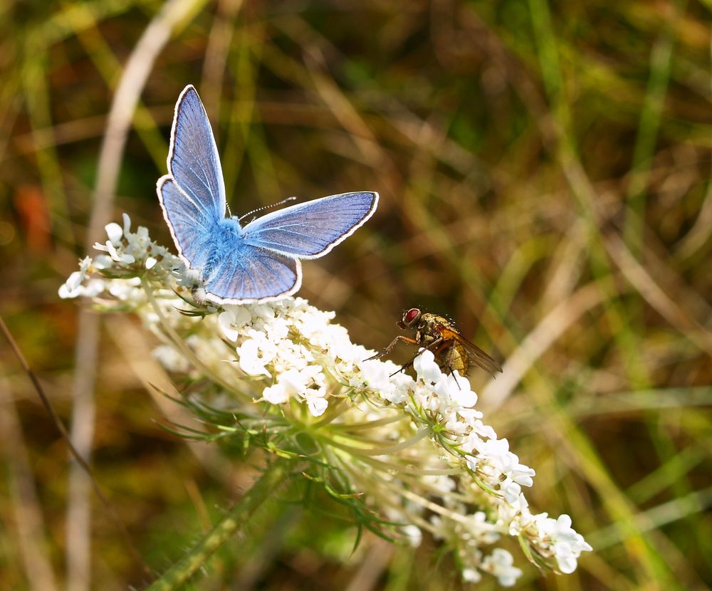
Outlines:
[{"label": "white flower cluster on which the butterfly and fly sit", "polygon": [[515,583],[522,571],[513,556],[493,547],[507,536],[519,538],[539,566],[565,573],[592,549],[568,516],[530,513],[522,488],[533,485],[534,470],[483,423],[468,380],[444,375],[431,352],[415,360],[414,379],[392,362],[367,360],[373,351],[353,344],[331,322],[334,313],[301,298],[194,302],[182,263],[144,228],[132,234],[125,216],[123,228],[109,224],[107,232],[96,248],[108,254],[80,261],[62,297],[103,306],[112,299],[160,338],[155,355],[169,371],[207,378],[256,417],[267,403],[294,429],[310,425],[312,433],[318,425],[323,463],[347,474],[372,511],[402,523],[410,543],[419,543],[422,530],[441,540],[464,580],[488,573],[501,585]]}]

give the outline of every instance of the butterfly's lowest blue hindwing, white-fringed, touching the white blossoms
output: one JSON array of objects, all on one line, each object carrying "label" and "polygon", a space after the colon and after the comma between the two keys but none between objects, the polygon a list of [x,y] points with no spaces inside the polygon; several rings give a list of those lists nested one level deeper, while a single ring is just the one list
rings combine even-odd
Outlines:
[{"label": "butterfly's lowest blue hindwing, white-fringed, touching the white blossoms", "polygon": [[221,245],[225,256],[205,281],[206,299],[219,304],[278,300],[297,291],[302,282],[299,261],[250,246],[239,236]]}]

